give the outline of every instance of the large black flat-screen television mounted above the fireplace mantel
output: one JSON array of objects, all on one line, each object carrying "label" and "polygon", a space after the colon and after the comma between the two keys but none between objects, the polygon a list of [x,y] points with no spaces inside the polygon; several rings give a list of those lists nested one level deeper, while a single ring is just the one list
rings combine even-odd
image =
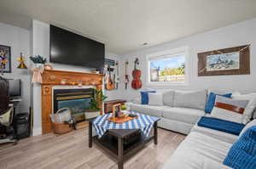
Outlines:
[{"label": "large black flat-screen television mounted above the fireplace mantel", "polygon": [[49,61],[65,65],[79,65],[102,68],[105,59],[105,45],[50,25]]}]

